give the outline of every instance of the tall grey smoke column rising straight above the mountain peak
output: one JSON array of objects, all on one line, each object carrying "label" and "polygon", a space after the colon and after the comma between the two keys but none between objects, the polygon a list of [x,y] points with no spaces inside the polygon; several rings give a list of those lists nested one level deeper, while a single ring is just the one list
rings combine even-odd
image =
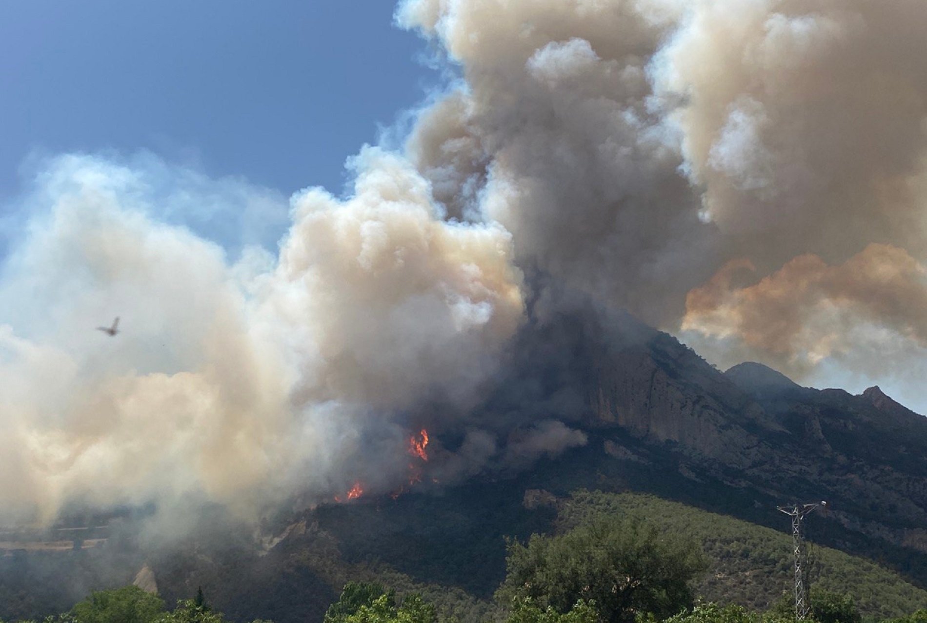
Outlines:
[{"label": "tall grey smoke column rising straight above the mountain peak", "polygon": [[518,264],[539,273],[535,289],[553,282],[654,324],[677,321],[679,293],[720,265],[648,77],[677,13],[625,2],[408,2],[399,12],[464,74],[409,143],[451,197],[449,213],[502,223]]}]

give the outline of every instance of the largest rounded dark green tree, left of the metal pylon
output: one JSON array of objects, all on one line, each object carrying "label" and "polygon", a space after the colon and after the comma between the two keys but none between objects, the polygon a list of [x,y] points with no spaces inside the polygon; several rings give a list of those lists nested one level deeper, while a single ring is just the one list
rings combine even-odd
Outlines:
[{"label": "largest rounded dark green tree, left of the metal pylon", "polygon": [[609,623],[637,613],[670,617],[692,605],[690,582],[705,569],[698,546],[636,519],[609,518],[555,537],[510,541],[501,598],[535,600],[561,614],[593,601]]}]

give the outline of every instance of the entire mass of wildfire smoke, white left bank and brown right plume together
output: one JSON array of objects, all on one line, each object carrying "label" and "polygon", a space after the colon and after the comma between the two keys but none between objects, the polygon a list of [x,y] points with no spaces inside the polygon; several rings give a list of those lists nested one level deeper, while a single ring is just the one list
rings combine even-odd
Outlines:
[{"label": "entire mass of wildfire smoke, white left bank and brown right plume together", "polygon": [[[442,481],[524,467],[584,443],[563,353],[619,310],[721,364],[911,391],[866,363],[925,361],[922,3],[409,0],[397,19],[461,79],[402,150],[351,160],[346,197],[45,163],[4,224],[8,514],[387,492],[422,427]],[[117,313],[120,336],[92,330]]]}]

